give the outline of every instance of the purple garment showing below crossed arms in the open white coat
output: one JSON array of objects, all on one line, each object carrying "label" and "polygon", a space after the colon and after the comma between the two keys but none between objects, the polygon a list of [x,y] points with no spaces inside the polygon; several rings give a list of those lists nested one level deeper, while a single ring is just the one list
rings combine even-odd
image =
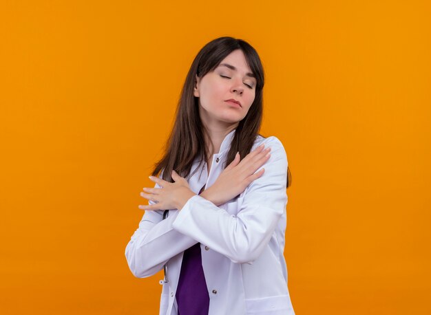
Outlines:
[{"label": "purple garment showing below crossed arms in the open white coat", "polygon": [[208,315],[209,294],[202,268],[200,243],[184,252],[176,301],[178,315]]}]

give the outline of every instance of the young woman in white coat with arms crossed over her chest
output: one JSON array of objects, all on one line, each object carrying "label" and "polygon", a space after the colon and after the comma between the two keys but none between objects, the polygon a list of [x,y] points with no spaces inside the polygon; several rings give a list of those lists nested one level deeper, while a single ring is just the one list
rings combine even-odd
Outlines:
[{"label": "young woman in white coat with arms crossed over her chest", "polygon": [[165,268],[160,314],[294,314],[288,162],[280,140],[258,133],[263,86],[260,58],[240,39],[211,41],[191,65],[125,251],[138,278]]}]

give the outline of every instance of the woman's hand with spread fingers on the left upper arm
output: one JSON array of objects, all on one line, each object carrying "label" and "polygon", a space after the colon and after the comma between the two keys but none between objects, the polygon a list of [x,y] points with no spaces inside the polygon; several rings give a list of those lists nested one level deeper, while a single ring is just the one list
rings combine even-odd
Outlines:
[{"label": "woman's hand with spread fingers on the left upper arm", "polygon": [[173,183],[162,180],[161,178],[150,176],[150,180],[157,183],[161,188],[143,188],[146,193],[140,193],[145,199],[156,202],[156,204],[140,205],[138,208],[143,210],[171,210],[181,208],[187,200],[196,195],[189,188],[189,183],[184,177],[181,177],[172,171]]}]

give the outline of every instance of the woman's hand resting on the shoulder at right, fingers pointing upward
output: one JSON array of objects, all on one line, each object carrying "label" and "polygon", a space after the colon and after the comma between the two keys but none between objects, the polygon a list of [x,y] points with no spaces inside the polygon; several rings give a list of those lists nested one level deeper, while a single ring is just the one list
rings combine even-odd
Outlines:
[{"label": "woman's hand resting on the shoulder at right, fingers pointing upward", "polygon": [[229,202],[233,197],[240,195],[251,182],[261,177],[265,169],[261,169],[270,158],[271,148],[264,149],[264,144],[257,146],[240,162],[240,153],[236,153],[235,158],[222,171],[218,179],[208,189],[203,191],[200,196],[209,200],[215,206],[220,206]]}]

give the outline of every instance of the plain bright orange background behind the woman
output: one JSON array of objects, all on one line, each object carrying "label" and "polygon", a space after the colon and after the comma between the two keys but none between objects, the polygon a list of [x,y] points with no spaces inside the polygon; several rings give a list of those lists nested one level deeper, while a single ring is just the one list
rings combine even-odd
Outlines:
[{"label": "plain bright orange background behind the woman", "polygon": [[429,1],[2,1],[0,313],[158,314],[125,246],[198,50],[245,39],[299,314],[431,314]]}]

